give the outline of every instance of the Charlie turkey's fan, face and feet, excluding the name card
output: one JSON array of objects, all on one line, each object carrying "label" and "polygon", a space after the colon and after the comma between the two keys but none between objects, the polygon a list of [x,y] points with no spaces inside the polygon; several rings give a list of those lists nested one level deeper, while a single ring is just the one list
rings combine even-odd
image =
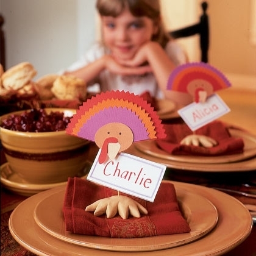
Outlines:
[{"label": "Charlie turkey's fan, face and feet, excluding the name card", "polygon": [[[88,99],[71,119],[66,132],[94,141],[101,149],[99,164],[113,161],[133,141],[166,137],[154,108],[140,96],[124,91],[107,91]],[[124,219],[129,214],[147,214],[142,205],[124,196],[101,199],[86,210],[94,211],[95,216],[106,213],[107,218],[113,218],[117,212]]]}]

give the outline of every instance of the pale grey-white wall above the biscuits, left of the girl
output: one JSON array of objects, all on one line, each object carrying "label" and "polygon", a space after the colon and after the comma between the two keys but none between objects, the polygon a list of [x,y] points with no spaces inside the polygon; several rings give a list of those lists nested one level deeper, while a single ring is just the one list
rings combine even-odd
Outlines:
[{"label": "pale grey-white wall above the biscuits, left of the girl", "polygon": [[0,0],[6,66],[30,62],[37,77],[69,66],[94,42],[95,0]]}]

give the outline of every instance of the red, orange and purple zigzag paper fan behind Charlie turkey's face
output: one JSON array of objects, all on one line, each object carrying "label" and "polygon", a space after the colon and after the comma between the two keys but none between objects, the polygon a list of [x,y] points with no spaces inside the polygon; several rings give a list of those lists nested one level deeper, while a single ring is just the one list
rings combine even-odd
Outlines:
[{"label": "red, orange and purple zigzag paper fan behind Charlie turkey's face", "polygon": [[97,130],[108,123],[126,124],[133,141],[165,138],[165,130],[154,108],[140,96],[124,91],[97,94],[80,106],[66,132],[94,141]]}]

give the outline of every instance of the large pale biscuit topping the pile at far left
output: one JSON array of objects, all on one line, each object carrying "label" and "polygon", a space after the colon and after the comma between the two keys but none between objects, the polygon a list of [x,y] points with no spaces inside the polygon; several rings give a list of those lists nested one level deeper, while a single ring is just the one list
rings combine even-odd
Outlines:
[{"label": "large pale biscuit topping the pile at far left", "polygon": [[4,72],[1,76],[2,86],[7,90],[18,90],[37,74],[29,62],[21,62]]}]

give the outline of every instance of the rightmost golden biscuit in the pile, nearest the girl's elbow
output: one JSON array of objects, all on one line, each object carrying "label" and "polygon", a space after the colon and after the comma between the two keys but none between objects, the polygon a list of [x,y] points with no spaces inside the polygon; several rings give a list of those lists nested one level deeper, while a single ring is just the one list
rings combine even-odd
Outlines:
[{"label": "rightmost golden biscuit in the pile, nearest the girl's elbow", "polygon": [[59,76],[51,89],[58,99],[84,99],[87,93],[85,81],[74,76]]}]

